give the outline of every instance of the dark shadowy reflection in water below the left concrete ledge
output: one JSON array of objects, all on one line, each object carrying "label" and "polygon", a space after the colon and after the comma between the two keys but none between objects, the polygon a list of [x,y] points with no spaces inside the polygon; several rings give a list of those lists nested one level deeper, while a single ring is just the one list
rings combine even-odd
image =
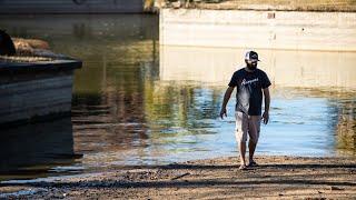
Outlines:
[{"label": "dark shadowy reflection in water below the left concrete ledge", "polygon": [[73,166],[76,158],[70,118],[1,130],[0,180],[48,176],[57,166]]}]

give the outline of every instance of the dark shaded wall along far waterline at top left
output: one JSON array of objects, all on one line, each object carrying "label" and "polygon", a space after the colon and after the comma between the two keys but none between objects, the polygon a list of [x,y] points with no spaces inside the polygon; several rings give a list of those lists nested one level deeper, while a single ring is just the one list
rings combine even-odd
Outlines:
[{"label": "dark shaded wall along far waterline at top left", "polygon": [[142,0],[0,0],[0,14],[130,13],[142,11]]}]

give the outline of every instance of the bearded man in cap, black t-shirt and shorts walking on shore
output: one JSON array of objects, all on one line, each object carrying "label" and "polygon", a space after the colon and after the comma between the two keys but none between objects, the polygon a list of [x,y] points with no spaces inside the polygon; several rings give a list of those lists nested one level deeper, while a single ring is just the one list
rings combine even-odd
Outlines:
[{"label": "bearded man in cap, black t-shirt and shorts walking on shore", "polygon": [[[267,74],[257,69],[258,54],[255,51],[248,51],[245,56],[246,67],[237,70],[229,82],[229,87],[225,92],[224,102],[220,111],[220,118],[227,117],[226,104],[230,99],[230,96],[236,87],[236,132],[235,137],[239,144],[240,151],[240,170],[245,170],[247,167],[257,166],[254,161],[254,153],[259,138],[260,120],[264,119],[264,123],[268,123],[269,119],[269,90],[270,81]],[[265,111],[261,114],[263,93],[265,97]],[[249,149],[249,162],[246,166],[246,142],[247,134],[249,136],[248,149]]]}]

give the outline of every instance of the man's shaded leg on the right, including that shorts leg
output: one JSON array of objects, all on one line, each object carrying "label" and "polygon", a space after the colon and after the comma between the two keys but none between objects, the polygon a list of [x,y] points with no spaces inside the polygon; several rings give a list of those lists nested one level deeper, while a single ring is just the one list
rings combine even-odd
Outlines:
[{"label": "man's shaded leg on the right, including that shorts leg", "polygon": [[256,146],[259,138],[259,127],[260,127],[260,117],[259,116],[250,116],[248,126],[248,154],[249,154],[249,163],[255,163],[254,154],[256,150]]}]

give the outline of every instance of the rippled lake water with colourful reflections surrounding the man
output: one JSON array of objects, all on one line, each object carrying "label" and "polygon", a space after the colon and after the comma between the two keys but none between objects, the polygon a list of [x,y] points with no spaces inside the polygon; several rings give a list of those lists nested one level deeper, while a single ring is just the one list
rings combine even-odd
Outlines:
[{"label": "rippled lake water with colourful reflections surrounding the man", "polygon": [[[237,156],[235,98],[246,49],[160,47],[156,16],[0,17],[14,37],[83,60],[72,117],[1,130],[0,179]],[[257,50],[273,81],[257,154],[356,154],[356,52]]]}]

